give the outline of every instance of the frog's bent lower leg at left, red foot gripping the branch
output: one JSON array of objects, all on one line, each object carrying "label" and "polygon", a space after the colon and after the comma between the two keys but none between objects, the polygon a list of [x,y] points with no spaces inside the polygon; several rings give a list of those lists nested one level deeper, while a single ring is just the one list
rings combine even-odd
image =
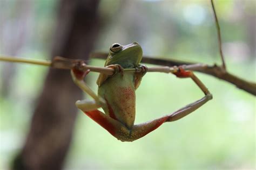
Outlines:
[{"label": "frog's bent lower leg at left, red foot gripping the branch", "polygon": [[103,98],[98,97],[84,82],[84,77],[90,72],[90,70],[86,70],[86,72],[80,71],[77,68],[71,69],[71,76],[73,81],[77,84],[77,86],[82,89],[85,93],[89,94],[94,100],[82,100],[77,101],[77,108],[85,111],[91,111],[102,107],[102,104],[105,104],[105,100]]}]

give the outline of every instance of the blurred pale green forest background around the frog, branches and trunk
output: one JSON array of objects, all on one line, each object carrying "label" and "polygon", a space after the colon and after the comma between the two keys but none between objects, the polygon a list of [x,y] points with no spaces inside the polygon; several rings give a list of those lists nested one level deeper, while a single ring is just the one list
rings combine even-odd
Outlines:
[{"label": "blurred pale green forest background around the frog, branches and trunk", "polygon": [[[60,1],[0,0],[0,53],[50,59]],[[216,1],[227,69],[255,82],[255,2]],[[145,55],[220,63],[209,1],[100,1],[104,24],[94,51],[139,42]],[[91,65],[104,61],[91,59]],[[0,63],[0,169],[21,151],[49,68]],[[255,169],[255,97],[196,73],[213,100],[142,139],[122,143],[79,111],[64,169]],[[97,73],[86,78],[97,91]],[[62,86],[62,84],[60,84]],[[149,73],[137,90],[136,123],[173,112],[203,94],[191,81]],[[77,98],[79,100],[79,98]],[[53,141],[54,142],[54,141]]]}]

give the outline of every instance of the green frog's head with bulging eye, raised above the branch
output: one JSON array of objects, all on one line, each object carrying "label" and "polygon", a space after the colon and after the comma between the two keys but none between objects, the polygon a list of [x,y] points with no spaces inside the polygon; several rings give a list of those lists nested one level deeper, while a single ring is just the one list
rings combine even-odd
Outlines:
[{"label": "green frog's head with bulging eye, raised above the branch", "polygon": [[138,42],[128,45],[114,43],[109,48],[109,56],[105,66],[119,64],[123,67],[137,66],[142,60],[142,47]]}]

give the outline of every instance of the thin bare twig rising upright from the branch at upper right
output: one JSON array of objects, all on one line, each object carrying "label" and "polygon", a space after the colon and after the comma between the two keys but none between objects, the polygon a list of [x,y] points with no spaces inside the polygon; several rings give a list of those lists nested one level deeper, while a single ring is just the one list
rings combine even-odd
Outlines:
[{"label": "thin bare twig rising upright from the branch at upper right", "polygon": [[219,25],[218,17],[217,17],[215,8],[214,8],[213,0],[211,0],[211,4],[212,4],[212,10],[213,10],[213,13],[214,13],[215,25],[216,25],[216,28],[217,28],[219,52],[220,52],[220,57],[221,57],[221,61],[222,61],[222,67],[223,67],[224,70],[226,70],[226,63],[225,63],[224,55],[223,55],[223,52],[222,52],[220,25]]}]

